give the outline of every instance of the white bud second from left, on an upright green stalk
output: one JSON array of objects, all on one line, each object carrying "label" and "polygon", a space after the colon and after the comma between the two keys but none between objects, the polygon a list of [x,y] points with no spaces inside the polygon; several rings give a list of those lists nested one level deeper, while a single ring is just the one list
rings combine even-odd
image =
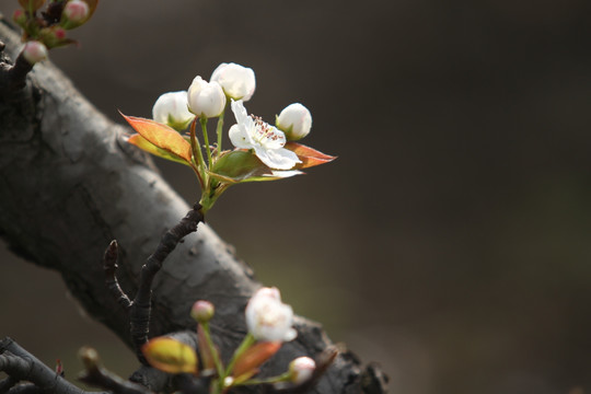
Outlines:
[{"label": "white bud second from left, on an upright green stalk", "polygon": [[195,77],[187,92],[188,109],[197,116],[217,117],[225,107],[225,94],[218,82]]}]

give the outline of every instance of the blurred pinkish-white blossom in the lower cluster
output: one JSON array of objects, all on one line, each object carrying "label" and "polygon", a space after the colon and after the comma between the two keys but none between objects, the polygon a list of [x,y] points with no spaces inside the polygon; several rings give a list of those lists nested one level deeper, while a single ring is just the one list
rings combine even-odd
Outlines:
[{"label": "blurred pinkish-white blossom in the lower cluster", "polygon": [[277,288],[259,289],[246,305],[246,325],[257,340],[289,341],[298,333],[291,327],[293,311],[281,302]]}]

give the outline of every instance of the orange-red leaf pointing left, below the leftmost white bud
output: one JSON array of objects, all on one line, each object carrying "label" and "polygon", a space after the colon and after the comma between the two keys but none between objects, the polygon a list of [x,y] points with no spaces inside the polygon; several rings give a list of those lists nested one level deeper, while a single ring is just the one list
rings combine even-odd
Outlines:
[{"label": "orange-red leaf pointing left, below the leftmost white bud", "polygon": [[190,163],[190,143],[188,143],[176,130],[152,119],[126,116],[124,114],[121,114],[121,116],[150,143]]}]

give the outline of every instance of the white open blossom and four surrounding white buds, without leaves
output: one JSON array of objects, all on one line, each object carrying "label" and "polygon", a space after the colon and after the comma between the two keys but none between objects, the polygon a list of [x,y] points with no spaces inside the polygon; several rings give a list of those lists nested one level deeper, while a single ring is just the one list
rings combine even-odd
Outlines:
[{"label": "white open blossom and four surrounding white buds, without leaves", "polygon": [[288,140],[299,140],[310,132],[312,115],[302,104],[293,103],[281,111],[277,125],[271,126],[260,117],[248,115],[244,107],[244,102],[251,100],[255,89],[253,69],[232,62],[221,63],[213,70],[209,82],[200,76],[195,77],[186,95],[182,92],[161,95],[152,108],[153,119],[179,130],[195,117],[219,117],[230,101],[236,119],[229,130],[232,144],[239,149],[252,149],[269,169],[291,170],[301,160],[283,147]]}]

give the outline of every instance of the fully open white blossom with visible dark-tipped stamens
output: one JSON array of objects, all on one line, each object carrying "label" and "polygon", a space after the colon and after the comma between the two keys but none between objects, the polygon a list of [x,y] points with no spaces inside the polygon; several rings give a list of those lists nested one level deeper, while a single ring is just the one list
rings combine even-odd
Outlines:
[{"label": "fully open white blossom with visible dark-tipped stamens", "polygon": [[232,112],[237,121],[230,128],[230,140],[234,147],[253,149],[256,157],[274,170],[291,170],[301,163],[296,153],[283,148],[283,132],[259,117],[248,116],[242,100],[232,100]]}]

